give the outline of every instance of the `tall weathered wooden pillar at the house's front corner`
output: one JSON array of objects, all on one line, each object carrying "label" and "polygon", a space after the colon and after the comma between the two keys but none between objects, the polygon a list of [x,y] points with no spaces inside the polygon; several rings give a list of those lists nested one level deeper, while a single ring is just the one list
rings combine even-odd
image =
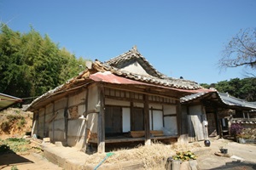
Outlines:
[{"label": "tall weathered wooden pillar at the house's front corner", "polygon": [[105,152],[105,95],[104,87],[101,84],[98,86],[98,128],[97,128],[97,139],[98,139],[98,152]]}]

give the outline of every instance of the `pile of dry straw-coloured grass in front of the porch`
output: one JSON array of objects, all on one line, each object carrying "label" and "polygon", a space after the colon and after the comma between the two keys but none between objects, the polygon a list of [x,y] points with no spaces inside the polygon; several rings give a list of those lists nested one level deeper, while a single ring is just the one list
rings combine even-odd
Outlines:
[{"label": "pile of dry straw-coloured grass in front of the porch", "polygon": [[[196,150],[201,148],[200,144],[151,144],[138,145],[131,150],[120,149],[113,150],[113,156],[109,156],[104,163],[119,164],[125,161],[140,161],[144,168],[154,169],[156,167],[164,166],[166,159],[174,156],[177,151]],[[101,162],[106,154],[93,154],[88,157],[85,164],[98,164]]]}]

